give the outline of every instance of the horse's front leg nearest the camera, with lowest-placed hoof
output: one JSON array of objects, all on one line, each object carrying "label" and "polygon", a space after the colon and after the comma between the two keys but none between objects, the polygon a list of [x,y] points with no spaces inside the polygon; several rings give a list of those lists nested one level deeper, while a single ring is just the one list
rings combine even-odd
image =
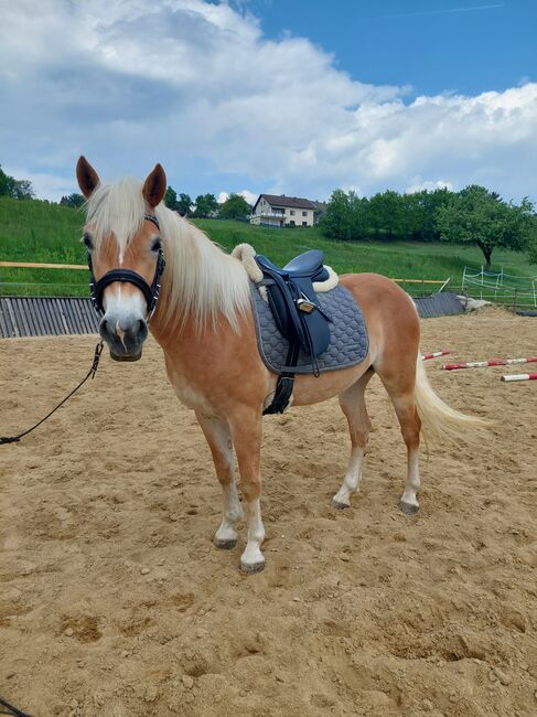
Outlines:
[{"label": "horse's front leg nearest the camera, with lowest-placed hoof", "polygon": [[255,411],[240,411],[229,422],[248,522],[248,542],[240,556],[240,569],[245,572],[259,572],[265,567],[265,558],[260,549],[265,539],[260,500],[261,415]]}]

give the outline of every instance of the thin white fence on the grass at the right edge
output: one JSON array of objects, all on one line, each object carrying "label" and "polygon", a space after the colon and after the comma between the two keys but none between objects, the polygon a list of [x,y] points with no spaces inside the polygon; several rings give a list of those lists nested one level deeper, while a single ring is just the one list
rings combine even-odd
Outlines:
[{"label": "thin white fence on the grass at the right edge", "polygon": [[485,299],[505,306],[537,307],[537,276],[517,277],[506,274],[481,271],[464,267],[462,275],[462,293],[476,299]]}]

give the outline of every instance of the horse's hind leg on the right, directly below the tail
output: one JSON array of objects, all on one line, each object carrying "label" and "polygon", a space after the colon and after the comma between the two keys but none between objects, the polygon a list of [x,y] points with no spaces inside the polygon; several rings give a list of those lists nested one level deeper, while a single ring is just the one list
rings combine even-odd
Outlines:
[{"label": "horse's hind leg on the right, directly below the tail", "polygon": [[[406,377],[383,383],[394,404],[397,418],[401,428],[402,439],[407,446],[407,483],[401,495],[399,507],[406,515],[414,515],[419,511],[417,491],[420,486],[419,480],[419,435],[421,421],[418,416],[415,399],[415,376],[416,363],[412,362],[412,371]],[[400,376],[405,375],[402,372]],[[408,375],[411,379],[408,379]],[[382,377],[382,376],[380,376]],[[402,384],[402,385],[401,385]]]}]

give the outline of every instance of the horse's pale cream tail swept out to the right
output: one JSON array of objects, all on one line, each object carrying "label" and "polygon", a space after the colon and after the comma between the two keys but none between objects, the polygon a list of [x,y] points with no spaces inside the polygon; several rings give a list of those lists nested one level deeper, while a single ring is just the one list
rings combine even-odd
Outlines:
[{"label": "horse's pale cream tail swept out to the right", "polygon": [[426,439],[437,436],[458,440],[465,427],[491,428],[492,426],[492,421],[477,416],[466,416],[451,408],[437,396],[429,383],[423,360],[419,353],[416,366],[415,399]]}]

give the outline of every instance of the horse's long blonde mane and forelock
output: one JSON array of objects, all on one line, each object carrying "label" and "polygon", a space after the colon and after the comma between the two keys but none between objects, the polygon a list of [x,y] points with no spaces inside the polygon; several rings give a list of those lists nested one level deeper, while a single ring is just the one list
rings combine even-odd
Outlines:
[{"label": "horse's long blonde mane and forelock", "polygon": [[[114,233],[121,254],[143,224],[147,213],[142,184],[120,180],[99,184],[86,202],[95,249]],[[238,331],[238,315],[250,306],[249,279],[240,261],[225,254],[196,226],[162,202],[154,210],[165,258],[159,320],[181,330],[193,319],[197,330],[218,320]]]}]

